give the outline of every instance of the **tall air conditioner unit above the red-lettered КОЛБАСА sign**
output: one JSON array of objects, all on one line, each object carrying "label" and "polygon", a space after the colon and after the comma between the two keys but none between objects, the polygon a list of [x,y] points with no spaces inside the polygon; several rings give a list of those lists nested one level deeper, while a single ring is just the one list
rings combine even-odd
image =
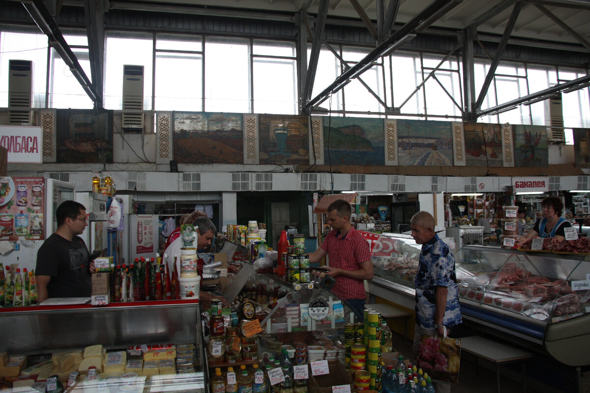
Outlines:
[{"label": "tall air conditioner unit above the red-lettered \u041a\u041e\u041b\u0411\u0410\u0421\u0410 sign", "polygon": [[[32,107],[33,62],[30,60],[8,61],[8,107]],[[8,113],[10,124],[31,126],[32,111],[11,110]]]}]

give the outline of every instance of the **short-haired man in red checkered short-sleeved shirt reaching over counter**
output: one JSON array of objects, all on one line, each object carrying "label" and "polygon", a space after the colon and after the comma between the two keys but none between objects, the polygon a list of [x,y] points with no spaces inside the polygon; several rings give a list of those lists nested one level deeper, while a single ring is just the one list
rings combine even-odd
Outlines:
[{"label": "short-haired man in red checkered short-sleeved shirt reaching over counter", "polygon": [[319,262],[326,254],[329,258],[327,275],[336,279],[332,293],[346,303],[363,319],[365,285],[363,280],[373,278],[373,263],[369,243],[350,223],[350,204],[335,200],[328,206],[327,222],[332,226],[322,246],[309,255],[309,262]]}]

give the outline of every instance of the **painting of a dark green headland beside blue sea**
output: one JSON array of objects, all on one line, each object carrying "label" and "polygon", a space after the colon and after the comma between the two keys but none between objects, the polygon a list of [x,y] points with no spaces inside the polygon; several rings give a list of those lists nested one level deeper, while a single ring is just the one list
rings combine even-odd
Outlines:
[{"label": "painting of a dark green headland beside blue sea", "polygon": [[384,165],[383,119],[324,117],[324,162]]}]

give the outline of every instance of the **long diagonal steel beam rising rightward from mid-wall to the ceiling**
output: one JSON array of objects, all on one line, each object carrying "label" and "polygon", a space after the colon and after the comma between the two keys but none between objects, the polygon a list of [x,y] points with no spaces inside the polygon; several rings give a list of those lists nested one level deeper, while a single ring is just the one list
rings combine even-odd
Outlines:
[{"label": "long diagonal steel beam rising rightward from mid-wall to the ceiling", "polygon": [[[418,15],[414,16],[411,20],[406,22],[401,28],[399,28],[394,34],[390,35],[389,38],[385,39],[381,45],[378,45],[375,49],[373,49],[368,55],[362,58],[358,63],[351,67],[349,70],[343,72],[339,77],[336,78],[332,84],[330,84],[327,88],[325,88],[322,93],[317,95],[312,100],[309,100],[307,103],[303,105],[301,113],[306,114],[309,113],[313,105],[320,103],[332,94],[335,91],[340,90],[346,83],[348,83],[351,79],[358,77],[358,75],[362,74],[365,70],[371,67],[372,62],[375,61],[377,58],[391,52],[395,49],[398,49],[403,45],[407,37],[412,34],[418,27],[426,27],[425,21],[430,21],[432,15],[437,14],[440,9],[450,9],[447,8],[449,5],[457,6],[461,4],[463,0],[435,0],[427,8],[423,9],[419,12]],[[451,7],[452,8],[452,7]],[[434,22],[434,21],[432,21]]]}]

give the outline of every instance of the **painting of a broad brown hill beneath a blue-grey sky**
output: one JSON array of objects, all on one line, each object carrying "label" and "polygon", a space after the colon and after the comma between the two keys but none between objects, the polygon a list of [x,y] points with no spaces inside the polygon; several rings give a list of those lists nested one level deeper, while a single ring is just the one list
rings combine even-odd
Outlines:
[{"label": "painting of a broad brown hill beneath a blue-grey sky", "polygon": [[179,163],[244,163],[241,113],[175,112],[172,141]]}]

